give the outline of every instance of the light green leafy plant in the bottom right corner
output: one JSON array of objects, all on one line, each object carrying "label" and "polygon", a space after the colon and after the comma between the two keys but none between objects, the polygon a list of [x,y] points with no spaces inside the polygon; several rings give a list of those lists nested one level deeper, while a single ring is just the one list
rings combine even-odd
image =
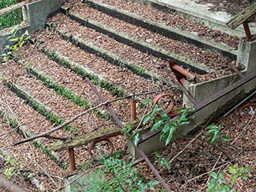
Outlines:
[{"label": "light green leafy plant in the bottom right corner", "polygon": [[243,166],[239,167],[238,163],[235,163],[230,167],[229,174],[232,174],[230,183],[226,181],[225,174],[216,174],[215,172],[210,173],[210,182],[207,184],[207,192],[234,192],[234,183],[237,178],[242,178],[246,180],[248,178],[248,172],[252,170],[251,167],[244,168]]}]

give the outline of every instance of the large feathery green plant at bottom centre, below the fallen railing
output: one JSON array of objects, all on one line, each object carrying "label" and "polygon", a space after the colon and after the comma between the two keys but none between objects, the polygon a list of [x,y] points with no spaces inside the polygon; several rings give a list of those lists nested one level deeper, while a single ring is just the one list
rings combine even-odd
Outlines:
[{"label": "large feathery green plant at bottom centre, below the fallen railing", "polygon": [[143,182],[138,174],[138,168],[133,167],[133,162],[126,163],[118,158],[105,158],[102,160],[102,167],[98,167],[86,179],[82,179],[72,190],[98,192],[98,191],[154,191],[154,186],[159,182]]}]

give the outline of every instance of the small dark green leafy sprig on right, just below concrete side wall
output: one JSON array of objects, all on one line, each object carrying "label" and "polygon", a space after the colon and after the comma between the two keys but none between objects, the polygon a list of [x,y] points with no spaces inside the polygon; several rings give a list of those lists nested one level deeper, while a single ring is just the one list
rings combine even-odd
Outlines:
[{"label": "small dark green leafy sprig on right, just below concrete side wall", "polygon": [[206,129],[207,129],[206,136],[210,135],[208,142],[210,142],[210,144],[212,144],[213,146],[215,146],[217,143],[222,145],[223,142],[231,141],[229,137],[222,135],[221,124],[219,124],[218,126],[210,125],[210,126],[207,126]]}]

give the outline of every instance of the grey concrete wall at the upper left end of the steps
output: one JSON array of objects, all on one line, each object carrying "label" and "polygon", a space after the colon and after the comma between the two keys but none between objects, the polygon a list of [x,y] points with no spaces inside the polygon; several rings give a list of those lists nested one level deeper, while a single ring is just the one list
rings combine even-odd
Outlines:
[{"label": "grey concrete wall at the upper left end of the steps", "polygon": [[28,30],[30,34],[42,30],[46,26],[46,19],[50,17],[50,15],[58,12],[64,2],[66,2],[66,0],[38,0],[36,2],[27,3],[26,10],[29,23],[25,26],[12,26],[0,31],[0,54],[2,54],[7,45],[11,45],[11,42],[8,41],[7,38],[12,28],[18,27],[17,37],[22,36],[26,30]]}]

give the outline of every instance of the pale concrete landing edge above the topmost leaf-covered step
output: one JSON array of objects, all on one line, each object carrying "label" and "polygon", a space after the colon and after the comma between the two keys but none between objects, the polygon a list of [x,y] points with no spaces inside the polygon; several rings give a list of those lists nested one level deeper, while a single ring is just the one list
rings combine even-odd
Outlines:
[{"label": "pale concrete landing edge above the topmost leaf-covered step", "polygon": [[[167,13],[176,13],[182,18],[186,18],[190,20],[191,22],[198,23],[199,25],[207,26],[212,30],[220,30],[222,33],[230,34],[237,36],[238,38],[245,37],[244,30],[242,26],[239,26],[235,30],[231,30],[229,26],[226,26],[226,22],[231,18],[230,14],[226,14],[225,12],[218,12],[218,14],[224,14],[223,18],[224,20],[216,19],[216,14],[214,12],[207,10],[207,7],[201,8],[201,12],[205,12],[205,14],[200,14],[200,7],[198,9],[194,8],[193,6],[190,6],[190,2],[186,2],[186,7],[180,6],[180,3],[173,3],[178,1],[169,1],[165,2],[162,0],[136,0],[137,2],[140,2],[146,6],[151,6],[153,8],[156,8],[158,10],[162,10]],[[199,11],[198,11],[199,10]],[[254,24],[251,25],[251,30],[255,33],[256,27]]]}]

